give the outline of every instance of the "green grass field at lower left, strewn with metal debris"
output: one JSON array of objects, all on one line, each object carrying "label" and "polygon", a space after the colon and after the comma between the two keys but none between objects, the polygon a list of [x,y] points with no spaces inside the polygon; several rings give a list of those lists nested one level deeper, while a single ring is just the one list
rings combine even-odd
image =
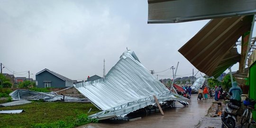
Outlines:
[{"label": "green grass field at lower left, strewn with metal debris", "polygon": [[[88,115],[100,111],[91,103],[32,102],[20,106],[1,107],[0,110],[24,110],[25,112],[0,114],[0,128],[32,128],[37,124],[68,124],[75,122],[78,118],[84,118],[81,114],[82,116],[87,114],[90,108],[92,110]],[[70,127],[78,124],[70,125]],[[45,128],[49,127],[51,126],[45,126]]]}]

